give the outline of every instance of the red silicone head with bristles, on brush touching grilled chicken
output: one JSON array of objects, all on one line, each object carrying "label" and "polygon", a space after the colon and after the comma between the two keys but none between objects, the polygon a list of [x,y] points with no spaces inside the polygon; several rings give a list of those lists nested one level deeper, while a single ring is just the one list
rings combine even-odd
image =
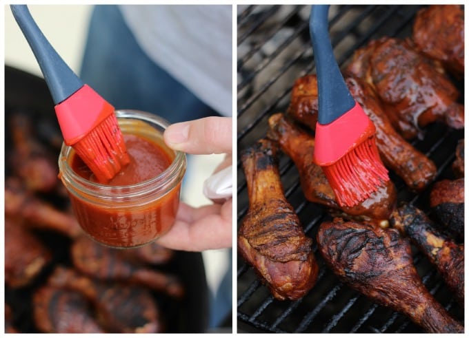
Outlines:
[{"label": "red silicone head with bristles, on brush touching grilled chicken", "polygon": [[375,130],[358,103],[328,125],[317,123],[315,161],[341,206],[354,207],[389,180],[379,158]]}]

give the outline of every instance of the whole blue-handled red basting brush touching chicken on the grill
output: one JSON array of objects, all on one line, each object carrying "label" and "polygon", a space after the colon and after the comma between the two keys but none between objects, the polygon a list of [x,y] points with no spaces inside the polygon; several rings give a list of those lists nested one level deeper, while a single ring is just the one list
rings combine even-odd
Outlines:
[{"label": "whole blue-handled red basting brush touching chicken on the grill", "polygon": [[309,23],[319,96],[315,162],[326,174],[337,202],[353,207],[389,176],[379,158],[375,125],[352,98],[335,60],[328,11],[328,5],[312,6]]}]

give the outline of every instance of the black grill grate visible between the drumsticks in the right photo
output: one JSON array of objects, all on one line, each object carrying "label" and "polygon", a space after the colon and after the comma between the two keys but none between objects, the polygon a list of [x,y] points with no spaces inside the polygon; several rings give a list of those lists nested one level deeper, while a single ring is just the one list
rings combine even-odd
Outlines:
[{"label": "black grill grate visible between the drumsticks in the right photo", "polygon": [[[330,32],[339,65],[346,65],[353,52],[381,36],[405,38],[412,32],[415,14],[422,6],[331,6]],[[241,149],[266,135],[268,117],[286,112],[296,78],[314,72],[309,41],[310,6],[238,6],[237,23],[237,142]],[[463,84],[457,83],[463,93]],[[463,95],[461,95],[463,96]],[[463,100],[463,98],[461,98]],[[422,140],[412,144],[438,167],[437,180],[454,178],[457,140],[463,131],[435,123]],[[303,198],[295,165],[279,158],[286,197],[299,215],[308,237],[315,238],[319,224],[329,220],[326,211]],[[412,202],[427,213],[429,189],[409,191],[401,178],[390,173],[398,189],[398,200]],[[246,180],[237,160],[237,221],[248,209]],[[405,316],[370,302],[352,291],[319,260],[319,278],[305,297],[291,302],[274,299],[254,271],[239,255],[237,260],[238,332],[422,332]],[[441,277],[426,257],[412,248],[417,271],[434,297],[463,321],[463,310],[455,303]]]}]

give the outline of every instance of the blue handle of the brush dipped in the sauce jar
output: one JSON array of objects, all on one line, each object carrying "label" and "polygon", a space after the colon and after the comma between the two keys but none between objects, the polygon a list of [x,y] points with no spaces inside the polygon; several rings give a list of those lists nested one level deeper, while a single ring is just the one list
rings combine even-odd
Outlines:
[{"label": "blue handle of the brush dipped in the sauce jar", "polygon": [[14,19],[26,37],[57,105],[83,87],[84,83],[63,61],[41,32],[26,5],[10,5]]}]

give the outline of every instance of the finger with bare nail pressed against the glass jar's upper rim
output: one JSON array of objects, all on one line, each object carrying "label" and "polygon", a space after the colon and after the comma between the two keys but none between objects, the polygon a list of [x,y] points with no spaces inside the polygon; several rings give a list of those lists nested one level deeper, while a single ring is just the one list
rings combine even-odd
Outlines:
[{"label": "finger with bare nail pressed against the glass jar's upper rim", "polygon": [[188,154],[230,154],[232,118],[200,118],[170,125],[163,134],[168,147]]}]

